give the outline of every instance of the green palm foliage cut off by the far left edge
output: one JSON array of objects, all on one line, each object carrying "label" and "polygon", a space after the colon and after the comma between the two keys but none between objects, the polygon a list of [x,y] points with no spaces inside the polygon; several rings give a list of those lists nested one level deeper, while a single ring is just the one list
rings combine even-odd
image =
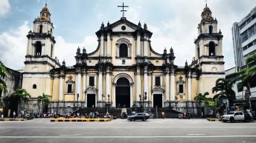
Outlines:
[{"label": "green palm foliage cut off by the far left edge", "polygon": [[4,64],[0,61],[0,99],[1,99],[2,91],[4,91],[4,93],[7,93],[7,86],[6,86],[6,83],[4,82],[5,76],[7,76],[7,70]]}]

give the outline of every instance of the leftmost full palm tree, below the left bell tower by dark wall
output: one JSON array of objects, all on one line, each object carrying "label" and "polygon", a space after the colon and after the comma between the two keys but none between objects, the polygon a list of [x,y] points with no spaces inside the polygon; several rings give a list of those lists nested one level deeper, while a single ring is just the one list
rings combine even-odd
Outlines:
[{"label": "leftmost full palm tree, below the left bell tower by dark wall", "polygon": [[31,95],[25,89],[16,89],[13,93],[10,94],[10,110],[11,113],[13,111],[18,110],[18,104],[20,102],[28,102],[28,99],[31,98]]}]

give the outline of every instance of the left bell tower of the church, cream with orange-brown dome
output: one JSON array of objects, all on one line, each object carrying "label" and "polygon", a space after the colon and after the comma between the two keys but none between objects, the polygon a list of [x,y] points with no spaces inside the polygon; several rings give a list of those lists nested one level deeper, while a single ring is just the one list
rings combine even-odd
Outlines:
[{"label": "left bell tower of the church, cream with orange-brown dome", "polygon": [[25,70],[22,88],[28,90],[33,98],[42,93],[51,95],[50,70],[60,67],[54,58],[54,26],[51,23],[51,13],[47,4],[42,7],[40,16],[33,21],[33,30],[28,32],[28,45],[25,56]]}]

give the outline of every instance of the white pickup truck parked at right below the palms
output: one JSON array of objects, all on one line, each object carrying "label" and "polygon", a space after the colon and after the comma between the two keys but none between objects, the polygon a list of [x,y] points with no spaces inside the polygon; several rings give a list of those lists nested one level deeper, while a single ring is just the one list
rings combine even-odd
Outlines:
[{"label": "white pickup truck parked at right below the palms", "polygon": [[232,111],[223,116],[223,122],[234,122],[234,121],[244,121],[245,116],[241,111]]}]

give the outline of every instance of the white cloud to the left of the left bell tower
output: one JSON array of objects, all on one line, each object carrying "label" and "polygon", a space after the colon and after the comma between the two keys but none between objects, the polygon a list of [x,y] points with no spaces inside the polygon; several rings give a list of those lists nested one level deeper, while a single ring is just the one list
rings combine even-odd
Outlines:
[{"label": "white cloud to the left of the left bell tower", "polygon": [[29,31],[28,21],[15,30],[0,33],[0,57],[5,66],[12,69],[23,69]]}]

